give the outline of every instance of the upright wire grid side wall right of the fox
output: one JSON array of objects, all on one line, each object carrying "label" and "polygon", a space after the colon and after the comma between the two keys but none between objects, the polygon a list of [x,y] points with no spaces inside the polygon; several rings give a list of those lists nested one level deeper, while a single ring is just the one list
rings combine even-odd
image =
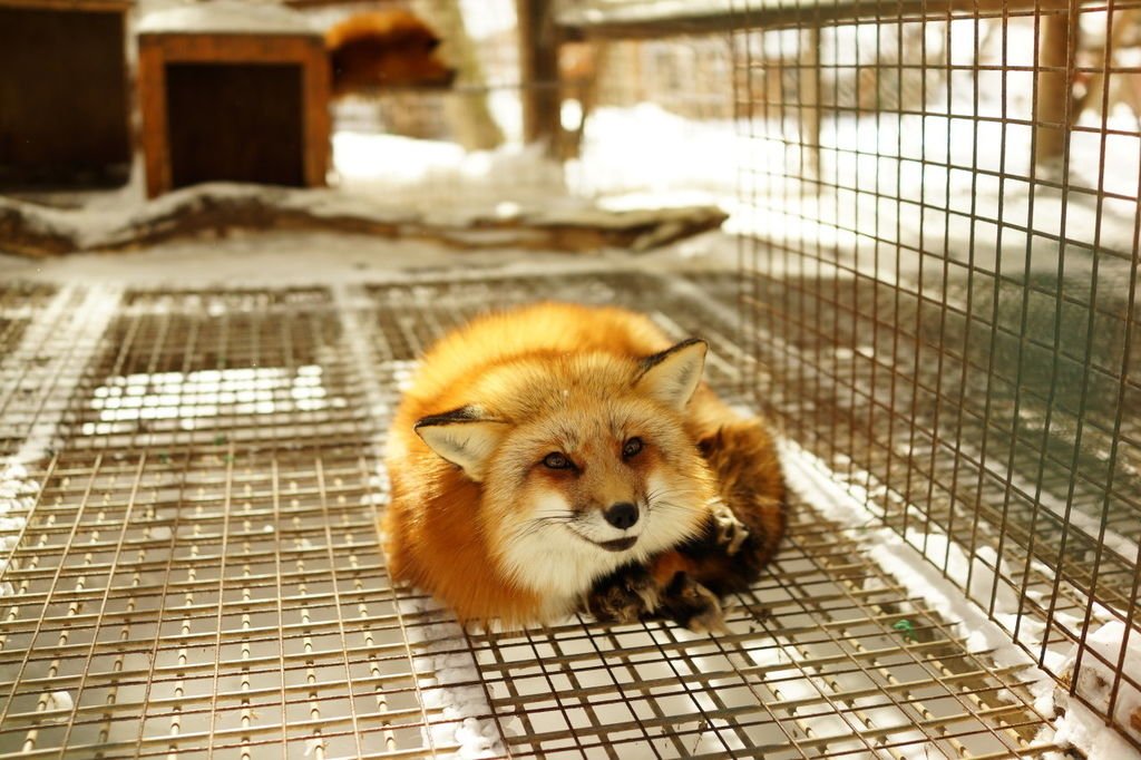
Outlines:
[{"label": "upright wire grid side wall right of the fox", "polygon": [[1139,8],[778,5],[734,34],[758,399],[1141,746]]}]

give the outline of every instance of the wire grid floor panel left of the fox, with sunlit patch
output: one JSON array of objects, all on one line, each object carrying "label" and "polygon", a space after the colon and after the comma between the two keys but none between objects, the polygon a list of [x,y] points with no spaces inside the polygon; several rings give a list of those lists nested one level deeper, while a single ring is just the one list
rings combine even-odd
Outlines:
[{"label": "wire grid floor panel left of the fox, with sunlit patch", "polygon": [[423,749],[340,331],[321,291],[124,296],[62,451],[6,472],[0,752]]}]

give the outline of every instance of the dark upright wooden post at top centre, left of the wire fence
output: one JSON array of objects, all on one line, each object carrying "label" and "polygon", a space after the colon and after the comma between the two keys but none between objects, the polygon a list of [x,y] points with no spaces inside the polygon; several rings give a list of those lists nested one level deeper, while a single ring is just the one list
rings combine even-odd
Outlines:
[{"label": "dark upright wooden post at top centre, left of the wire fence", "polygon": [[516,0],[523,74],[523,137],[556,148],[560,128],[559,43],[552,0]]}]

